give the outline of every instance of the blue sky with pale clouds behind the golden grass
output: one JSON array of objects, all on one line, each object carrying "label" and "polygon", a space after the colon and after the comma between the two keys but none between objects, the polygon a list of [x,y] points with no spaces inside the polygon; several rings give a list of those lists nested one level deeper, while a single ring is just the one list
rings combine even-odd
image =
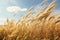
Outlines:
[{"label": "blue sky with pale clouds behind the golden grass", "polygon": [[[40,3],[42,1],[43,0],[0,0],[0,24],[3,24],[6,18],[20,18],[21,15],[24,15],[31,6],[34,6],[36,9],[38,9],[38,7],[40,8]],[[48,0],[46,4],[49,4],[51,1],[52,0]],[[60,13],[60,0],[56,1],[56,5],[57,6],[54,10]],[[14,14],[17,15],[13,17]]]}]

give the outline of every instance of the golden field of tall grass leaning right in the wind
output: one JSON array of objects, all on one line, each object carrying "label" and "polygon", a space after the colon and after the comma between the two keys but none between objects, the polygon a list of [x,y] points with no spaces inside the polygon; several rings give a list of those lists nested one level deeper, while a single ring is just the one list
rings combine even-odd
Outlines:
[{"label": "golden field of tall grass leaning right in the wind", "polygon": [[55,2],[36,12],[33,11],[19,19],[7,19],[6,25],[0,25],[0,40],[60,40],[60,16],[53,12]]}]

